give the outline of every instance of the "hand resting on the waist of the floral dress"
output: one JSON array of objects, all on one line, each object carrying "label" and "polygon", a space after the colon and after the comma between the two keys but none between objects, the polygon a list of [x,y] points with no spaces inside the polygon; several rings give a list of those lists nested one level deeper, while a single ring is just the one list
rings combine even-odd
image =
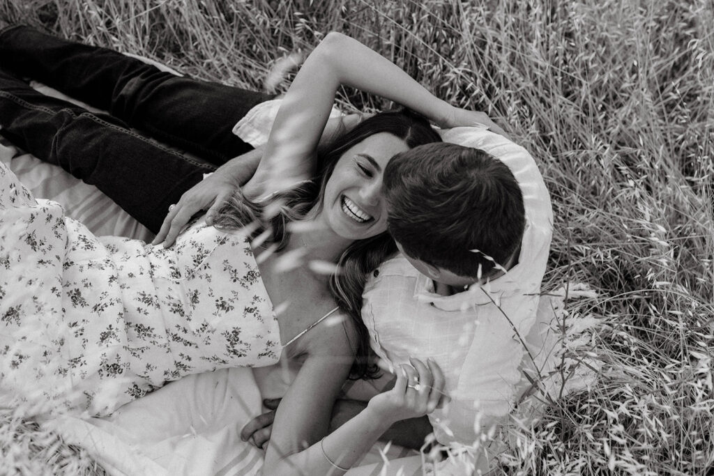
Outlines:
[{"label": "hand resting on the waist of the floral dress", "polygon": [[233,196],[238,188],[240,186],[235,179],[221,171],[213,172],[183,193],[181,200],[169,208],[169,214],[164,218],[164,223],[161,224],[161,229],[151,244],[158,245],[163,242],[166,248],[173,245],[178,233],[191,217],[203,210],[208,210],[206,223],[211,225],[218,208]]}]

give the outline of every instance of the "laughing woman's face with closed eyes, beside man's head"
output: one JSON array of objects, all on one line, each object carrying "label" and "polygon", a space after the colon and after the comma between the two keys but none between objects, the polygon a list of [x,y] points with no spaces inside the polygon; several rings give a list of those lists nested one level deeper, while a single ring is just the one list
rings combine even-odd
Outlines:
[{"label": "laughing woman's face with closed eyes, beside man's head", "polygon": [[389,159],[407,151],[401,138],[376,133],[342,154],[328,179],[321,216],[338,236],[363,240],[387,229],[382,175]]}]

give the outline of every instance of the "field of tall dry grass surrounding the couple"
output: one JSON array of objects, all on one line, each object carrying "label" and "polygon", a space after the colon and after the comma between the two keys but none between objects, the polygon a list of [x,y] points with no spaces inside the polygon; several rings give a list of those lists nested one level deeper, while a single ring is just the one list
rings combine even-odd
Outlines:
[{"label": "field of tall dry grass surrounding the couple", "polygon": [[[548,402],[499,471],[714,467],[710,0],[0,0],[0,19],[271,91],[289,83],[279,59],[342,31],[441,98],[487,111],[550,188],[543,289],[598,293],[566,308],[593,322],[568,357],[597,368],[597,383]],[[355,91],[340,101],[388,106]]]}]

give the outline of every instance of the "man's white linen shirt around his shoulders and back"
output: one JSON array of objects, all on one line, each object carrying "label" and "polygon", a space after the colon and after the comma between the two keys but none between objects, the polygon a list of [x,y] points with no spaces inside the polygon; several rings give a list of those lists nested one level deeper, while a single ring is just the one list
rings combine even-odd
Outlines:
[{"label": "man's white linen shirt around his shoulders and back", "polygon": [[[491,283],[443,296],[398,255],[369,276],[362,318],[371,347],[388,367],[408,364],[409,357],[438,363],[452,400],[429,419],[439,442],[469,445],[515,403],[526,355],[522,340],[536,321],[553,214],[540,171],[525,149],[473,128],[442,131],[442,136],[491,153],[516,177],[526,211],[518,263]],[[473,226],[480,226],[477,217]]]}]

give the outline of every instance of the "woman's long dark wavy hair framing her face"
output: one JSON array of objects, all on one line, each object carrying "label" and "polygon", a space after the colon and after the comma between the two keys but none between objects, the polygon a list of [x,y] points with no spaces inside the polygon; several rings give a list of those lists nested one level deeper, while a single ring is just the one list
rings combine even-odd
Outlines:
[{"label": "woman's long dark wavy hair framing her face", "polygon": [[[369,136],[383,132],[403,139],[409,148],[441,142],[438,133],[431,128],[428,121],[408,109],[378,113],[336,138],[318,153],[317,171],[311,181],[303,183],[299,188],[271,196],[268,203],[248,201],[241,193],[237,193],[219,211],[214,221],[216,227],[236,229],[243,228],[248,223],[256,223],[257,228],[251,233],[251,238],[270,230],[266,242],[272,243],[276,251],[282,250],[288,244],[288,223],[305,218],[313,209],[321,210],[325,187],[343,153]],[[278,211],[266,216],[266,208],[273,208],[275,204],[279,204]],[[378,373],[376,365],[371,365],[368,359],[369,334],[362,322],[362,293],[367,273],[371,273],[395,252],[396,245],[387,232],[365,240],[356,240],[343,251],[338,260],[340,272],[330,278],[333,298],[341,310],[353,320],[357,333],[358,342],[353,343],[356,361],[352,368],[352,378],[373,378]]]}]

